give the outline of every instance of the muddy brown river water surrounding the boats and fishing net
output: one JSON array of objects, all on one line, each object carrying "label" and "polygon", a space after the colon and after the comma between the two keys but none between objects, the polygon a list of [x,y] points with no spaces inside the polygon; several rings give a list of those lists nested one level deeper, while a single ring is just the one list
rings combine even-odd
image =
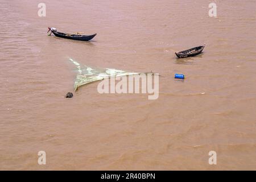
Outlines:
[{"label": "muddy brown river water surrounding the boats and fishing net", "polygon": [[[254,0],[213,1],[217,18],[210,1],[45,0],[46,17],[40,2],[0,1],[0,169],[256,169]],[[97,36],[75,42],[47,27]],[[69,58],[160,73],[159,98],[100,94],[94,82],[66,99]]]}]

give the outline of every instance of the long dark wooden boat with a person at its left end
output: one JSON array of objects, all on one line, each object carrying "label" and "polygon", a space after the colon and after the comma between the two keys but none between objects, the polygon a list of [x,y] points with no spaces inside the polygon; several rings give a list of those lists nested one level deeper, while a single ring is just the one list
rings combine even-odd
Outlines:
[{"label": "long dark wooden boat with a person at its left end", "polygon": [[[94,36],[96,36],[97,34],[93,34],[93,35],[81,35],[79,32],[77,32],[76,34],[66,34],[63,32],[59,32],[57,31],[56,28],[50,28],[48,27],[48,32],[51,31],[51,34],[54,34],[55,36],[59,37],[59,38],[64,38],[64,39],[72,39],[72,40],[81,40],[81,41],[89,41],[92,40],[94,38]],[[47,33],[48,33],[47,32]],[[50,35],[51,35],[50,34]]]}]

